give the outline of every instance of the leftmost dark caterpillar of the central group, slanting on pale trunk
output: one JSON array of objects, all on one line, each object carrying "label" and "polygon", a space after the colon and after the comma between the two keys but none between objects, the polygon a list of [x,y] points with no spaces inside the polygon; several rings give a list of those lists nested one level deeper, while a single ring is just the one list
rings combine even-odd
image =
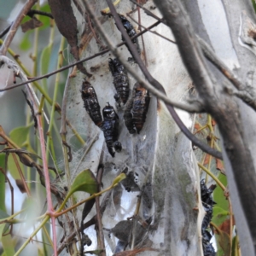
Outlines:
[{"label": "leftmost dark caterpillar of the central group, slanting on pale trunk", "polygon": [[92,85],[85,81],[82,84],[81,90],[82,99],[84,101],[84,108],[87,113],[90,115],[90,119],[99,127],[102,125],[102,114],[101,107],[99,105],[96,91],[92,87]]}]

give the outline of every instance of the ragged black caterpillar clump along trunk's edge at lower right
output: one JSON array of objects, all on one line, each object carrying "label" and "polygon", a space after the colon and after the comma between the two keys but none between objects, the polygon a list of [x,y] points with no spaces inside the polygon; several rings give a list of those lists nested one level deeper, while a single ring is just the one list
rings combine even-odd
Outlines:
[{"label": "ragged black caterpillar clump along trunk's edge at lower right", "polygon": [[207,189],[204,179],[201,180],[200,185],[201,185],[202,205],[204,207],[204,210],[207,212],[201,224],[203,253],[204,253],[204,256],[215,256],[216,255],[215,250],[212,247],[212,243],[210,243],[212,239],[212,235],[207,230],[207,227],[210,224],[212,219],[212,207],[215,204],[215,202],[212,200],[212,192],[216,188],[216,185],[212,185],[210,186],[209,189]]}]

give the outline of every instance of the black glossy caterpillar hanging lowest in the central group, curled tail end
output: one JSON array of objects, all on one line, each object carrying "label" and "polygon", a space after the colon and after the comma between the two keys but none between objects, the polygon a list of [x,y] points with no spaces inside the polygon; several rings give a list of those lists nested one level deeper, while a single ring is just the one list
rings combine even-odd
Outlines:
[{"label": "black glossy caterpillar hanging lowest in the central group, curled tail end", "polygon": [[109,154],[114,157],[114,151],[120,152],[122,150],[121,143],[118,142],[119,137],[119,116],[115,113],[113,107],[108,103],[108,106],[103,108],[103,122],[101,129],[104,133],[105,141],[107,143]]}]

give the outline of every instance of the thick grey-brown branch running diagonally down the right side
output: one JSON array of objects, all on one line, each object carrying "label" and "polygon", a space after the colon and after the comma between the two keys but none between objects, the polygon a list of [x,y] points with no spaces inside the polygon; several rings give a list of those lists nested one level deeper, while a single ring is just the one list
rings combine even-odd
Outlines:
[{"label": "thick grey-brown branch running diagonally down the right side", "polygon": [[[185,67],[187,67],[199,95],[206,103],[207,110],[218,123],[224,148],[234,173],[238,200],[241,201],[243,212],[247,218],[256,252],[256,205],[252,203],[256,200],[255,167],[241,125],[238,104],[234,97],[223,93],[222,86],[213,84],[212,74],[207,69],[189,15],[186,14],[180,1],[154,0],[154,3],[160,9],[166,24],[172,29]],[[229,182],[232,181],[229,180]],[[239,219],[236,221],[238,222]],[[238,230],[239,232],[242,230]]]}]

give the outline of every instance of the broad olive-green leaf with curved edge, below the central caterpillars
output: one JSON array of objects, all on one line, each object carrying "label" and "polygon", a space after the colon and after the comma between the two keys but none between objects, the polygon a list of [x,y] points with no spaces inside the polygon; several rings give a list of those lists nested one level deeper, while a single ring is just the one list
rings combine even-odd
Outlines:
[{"label": "broad olive-green leaf with curved edge, below the central caterpillars", "polygon": [[73,184],[67,194],[67,197],[72,195],[74,192],[83,191],[89,194],[94,194],[97,192],[98,183],[96,181],[96,177],[90,171],[90,169],[86,169],[83,172],[80,172],[77,177],[73,180]]}]

